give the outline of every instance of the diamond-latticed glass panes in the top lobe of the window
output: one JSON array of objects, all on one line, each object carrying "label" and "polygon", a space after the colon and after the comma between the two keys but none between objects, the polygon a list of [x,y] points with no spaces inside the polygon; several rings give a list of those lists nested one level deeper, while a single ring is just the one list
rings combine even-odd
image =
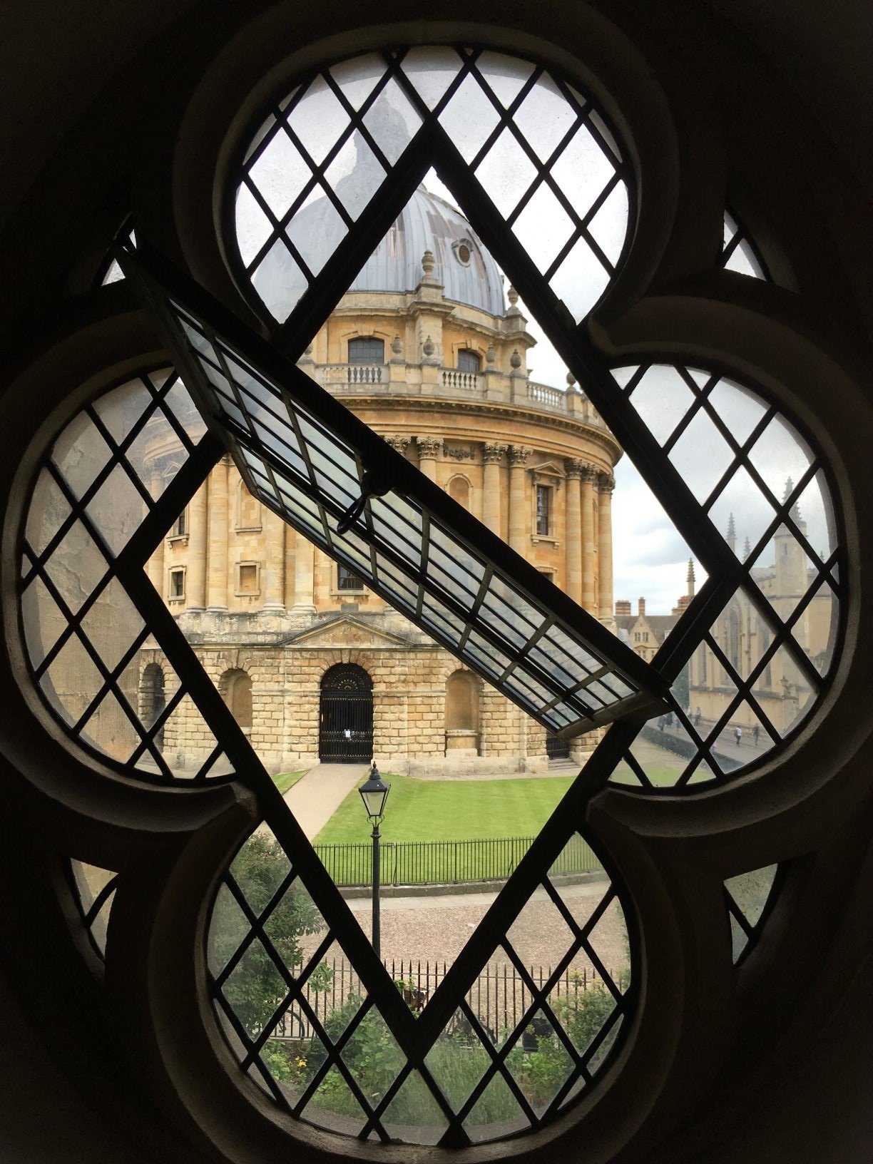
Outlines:
[{"label": "diamond-latticed glass panes in the top lobe of the window", "polygon": [[[630,219],[624,162],[603,118],[528,61],[450,48],[399,56],[399,76],[372,52],[335,65],[253,134],[233,192],[235,235],[263,306],[289,318],[426,123],[420,101],[554,293],[584,318],[612,278]],[[473,268],[476,249],[461,240],[456,265]]]}]

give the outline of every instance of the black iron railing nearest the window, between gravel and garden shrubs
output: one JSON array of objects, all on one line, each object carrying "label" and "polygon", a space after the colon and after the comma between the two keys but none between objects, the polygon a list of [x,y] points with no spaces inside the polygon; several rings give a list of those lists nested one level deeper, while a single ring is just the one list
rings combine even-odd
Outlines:
[{"label": "black iron railing nearest the window, between gravel and garden shrubs", "polygon": [[[367,994],[353,966],[345,959],[334,958],[324,963],[325,972],[319,977],[320,989],[312,989],[308,984],[304,996],[310,1008],[321,1023],[334,1010],[345,1006],[349,999],[363,999]],[[404,959],[385,959],[385,970],[397,985],[413,1012],[424,1009],[428,998],[446,977],[450,964],[446,961],[420,961]],[[528,966],[527,972],[538,987],[552,977],[552,966]],[[627,971],[609,971],[612,981],[624,989],[627,985]],[[605,984],[591,966],[567,968],[556,980],[549,992],[549,1003],[560,1013],[563,999],[576,1008],[584,999],[587,991],[603,991]],[[509,963],[492,963],[485,966],[467,993],[467,1002],[488,1032],[495,1037],[501,1031],[514,1030],[532,1001],[527,982]],[[459,1013],[453,1020],[460,1028],[466,1020]],[[541,1032],[541,1031],[540,1031]],[[276,1025],[274,1038],[311,1038],[314,1034],[306,1009],[298,1005],[290,1007]]]}]

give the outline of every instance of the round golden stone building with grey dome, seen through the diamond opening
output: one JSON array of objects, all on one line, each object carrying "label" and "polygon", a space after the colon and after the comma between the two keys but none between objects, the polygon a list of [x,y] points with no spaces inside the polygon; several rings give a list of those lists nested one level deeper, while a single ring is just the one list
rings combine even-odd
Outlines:
[{"label": "round golden stone building with grey dome, seen through the diamond opening", "polygon": [[[613,625],[620,449],[572,382],[563,391],[531,379],[534,343],[469,223],[419,187],[300,368]],[[171,462],[172,449],[156,442],[155,489]],[[347,677],[361,668],[371,684],[371,743],[365,726],[348,729],[356,759],[371,750],[389,771],[413,773],[547,764],[542,728],[263,509],[228,460],[180,514],[149,576],[274,769],[347,758],[325,740],[325,677],[338,665]],[[165,661],[143,652],[147,718],[172,683]],[[179,765],[208,746],[184,716],[168,723],[163,743]],[[576,755],[583,750],[574,741]]]}]

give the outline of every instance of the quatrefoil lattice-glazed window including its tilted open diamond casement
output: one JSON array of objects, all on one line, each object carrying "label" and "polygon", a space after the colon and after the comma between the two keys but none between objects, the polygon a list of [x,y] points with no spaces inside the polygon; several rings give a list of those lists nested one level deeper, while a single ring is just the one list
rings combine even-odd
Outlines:
[{"label": "quatrefoil lattice-glazed window including its tilted open diamond casement", "polygon": [[[235,773],[256,793],[263,824],[221,878],[208,934],[212,1000],[227,1044],[254,1085],[283,1112],[361,1140],[464,1147],[501,1138],[538,1128],[588,1095],[596,1077],[616,1065],[639,1002],[636,916],[619,871],[585,823],[592,796],[610,779],[643,796],[660,786],[693,794],[717,785],[759,759],[725,751],[724,733],[738,716],[757,717],[775,752],[826,688],[845,576],[828,467],[796,426],[728,370],[662,361],[655,353],[611,367],[596,350],[585,320],[620,267],[634,191],[603,116],[540,65],[487,50],[369,54],[282,94],[247,146],[232,192],[236,275],[275,325],[271,342],[147,249],[141,261],[121,257],[210,431],[201,436],[198,418],[194,435],[178,433],[187,460],[159,497],[134,471],[128,450],[148,416],[164,409],[164,386],[143,384],[139,407],[146,411],[121,433],[101,420],[99,402],[87,406],[87,421],[106,445],[87,480],[71,478],[76,464],[64,461],[63,448],[52,449],[41,470],[50,504],[40,510],[42,525],[35,519],[22,538],[31,677],[56,718],[104,761],[105,750],[88,733],[90,717],[101,701],[113,715],[127,716],[120,751],[108,757],[125,774],[178,785]],[[431,166],[705,568],[707,583],[651,666],[291,362]],[[576,180],[580,173],[584,180]],[[463,263],[475,257],[470,251]],[[70,426],[71,438],[80,419]],[[143,574],[173,518],[226,452],[253,496],[537,718],[549,739],[611,724],[484,922],[414,1013]],[[136,520],[121,531],[123,538],[106,526],[95,504],[116,469],[136,494]],[[748,530],[747,552],[725,533],[733,525],[728,516],[736,513]],[[77,608],[65,602],[52,570],[73,530],[100,563]],[[802,581],[789,597],[774,589],[783,558]],[[135,616],[129,641],[121,648],[109,644],[112,658],[108,647],[101,650],[100,627],[88,622],[104,594]],[[815,643],[807,627],[814,608],[821,608]],[[44,610],[51,618],[42,617]],[[33,633],[34,624],[37,631],[56,625],[59,633],[47,641]],[[157,700],[154,682],[141,681],[137,714],[127,672],[137,651],[157,653],[152,641],[163,652],[166,687]],[[52,688],[54,660],[70,643],[93,672],[84,705],[72,703],[79,691]],[[715,686],[723,703],[697,716],[695,693]],[[794,708],[793,717],[775,718],[776,697]],[[183,704],[201,717],[207,740],[201,762],[187,772],[175,771],[164,754]],[[453,730],[475,734],[482,714],[471,701]],[[667,780],[647,766],[641,746],[651,743],[645,721],[652,715],[663,718],[681,758]],[[277,872],[264,883],[247,872],[249,859],[274,845]],[[579,867],[569,863],[585,845],[606,878],[582,913],[562,895],[559,878]],[[566,942],[546,980],[527,970],[525,921],[530,932],[534,893]],[[736,921],[739,904],[737,910]],[[286,941],[290,913],[304,920],[311,938],[305,951]],[[610,975],[602,956],[602,923],[615,913],[626,922],[630,980]],[[764,916],[747,922],[746,936]],[[561,968],[580,951],[602,984],[584,1015],[559,989]],[[327,1022],[311,1000],[335,954],[354,965],[360,992]],[[527,992],[524,1013],[504,1029],[470,1001],[474,981],[496,954],[512,964]],[[730,963],[726,920],[724,957]],[[299,1076],[289,1076],[276,1069],[272,1044],[288,1031],[293,1037],[301,1021],[312,1058]],[[446,1039],[475,1049],[475,1078],[453,1071],[442,1053]],[[362,1043],[377,1045],[391,1065],[378,1087],[365,1088],[359,1077]],[[547,1088],[531,1084],[533,1055],[551,1064]]]}]

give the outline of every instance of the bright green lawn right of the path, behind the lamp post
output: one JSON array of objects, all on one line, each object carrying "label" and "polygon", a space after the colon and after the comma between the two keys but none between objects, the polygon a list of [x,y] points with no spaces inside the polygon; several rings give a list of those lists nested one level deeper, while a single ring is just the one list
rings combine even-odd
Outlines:
[{"label": "bright green lawn right of the path, behind the lamp post", "polygon": [[[573,782],[573,776],[518,780],[414,780],[391,785],[383,840],[464,840],[533,837]],[[363,780],[361,781],[363,783]],[[349,793],[315,837],[318,845],[368,840],[370,826],[357,790]]]}]

